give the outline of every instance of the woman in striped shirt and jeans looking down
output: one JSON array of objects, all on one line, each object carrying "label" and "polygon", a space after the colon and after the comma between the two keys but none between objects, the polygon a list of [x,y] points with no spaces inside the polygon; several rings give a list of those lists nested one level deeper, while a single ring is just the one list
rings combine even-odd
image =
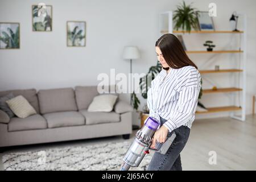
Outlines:
[{"label": "woman in striped shirt and jeans looking down", "polygon": [[176,138],[166,154],[155,152],[148,170],[182,170],[180,152],[187,143],[201,89],[196,65],[186,55],[175,35],[165,34],[155,44],[162,71],[151,82],[147,105],[150,116],[160,121],[151,148],[172,133]]}]

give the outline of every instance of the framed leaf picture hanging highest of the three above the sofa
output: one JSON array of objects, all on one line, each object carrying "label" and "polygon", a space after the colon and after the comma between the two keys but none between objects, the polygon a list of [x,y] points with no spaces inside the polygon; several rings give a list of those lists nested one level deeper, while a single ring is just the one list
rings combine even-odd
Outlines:
[{"label": "framed leaf picture hanging highest of the three above the sofa", "polygon": [[32,30],[52,31],[52,6],[32,5]]}]

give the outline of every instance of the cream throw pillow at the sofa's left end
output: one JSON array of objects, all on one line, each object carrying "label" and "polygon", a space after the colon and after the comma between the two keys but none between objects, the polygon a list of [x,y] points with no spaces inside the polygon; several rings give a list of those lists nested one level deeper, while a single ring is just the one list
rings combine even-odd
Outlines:
[{"label": "cream throw pillow at the sofa's left end", "polygon": [[19,118],[26,118],[32,114],[36,114],[34,107],[23,96],[17,96],[6,101],[11,110]]}]

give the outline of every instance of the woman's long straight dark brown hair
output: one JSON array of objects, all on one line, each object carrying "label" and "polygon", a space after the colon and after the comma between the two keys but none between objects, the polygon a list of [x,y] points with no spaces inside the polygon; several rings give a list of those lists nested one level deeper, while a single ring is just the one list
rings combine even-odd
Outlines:
[{"label": "woman's long straight dark brown hair", "polygon": [[[182,68],[185,66],[197,66],[189,59],[185,53],[180,40],[173,34],[164,34],[155,43],[156,47],[161,50],[166,63],[174,69]],[[169,68],[163,68],[168,70]]]}]

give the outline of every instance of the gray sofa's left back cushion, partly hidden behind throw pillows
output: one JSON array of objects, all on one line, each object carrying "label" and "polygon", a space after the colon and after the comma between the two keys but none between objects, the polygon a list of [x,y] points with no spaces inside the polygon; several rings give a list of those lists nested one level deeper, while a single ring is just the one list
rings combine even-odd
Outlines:
[{"label": "gray sofa's left back cushion, partly hidden behind throw pillows", "polygon": [[9,93],[13,93],[14,96],[22,95],[30,102],[31,106],[34,107],[36,113],[39,113],[38,97],[36,95],[36,89],[26,89],[26,90],[7,90],[0,92],[0,97],[6,96]]}]

